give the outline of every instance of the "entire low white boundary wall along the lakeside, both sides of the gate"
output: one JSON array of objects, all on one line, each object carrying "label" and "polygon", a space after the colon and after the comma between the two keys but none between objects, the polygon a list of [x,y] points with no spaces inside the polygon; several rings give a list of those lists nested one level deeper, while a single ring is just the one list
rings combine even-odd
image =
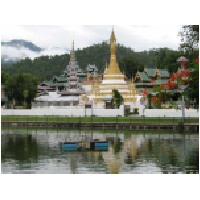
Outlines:
[{"label": "entire low white boundary wall along the lakeside, both sides of the gate", "polygon": [[[144,112],[143,112],[144,111]],[[61,115],[61,116],[124,116],[124,106],[120,109],[75,109],[75,108],[34,108],[34,109],[1,109],[1,115]],[[139,116],[145,117],[182,117],[182,110],[176,109],[144,109],[140,106]],[[185,117],[199,117],[196,109],[185,109]]]}]

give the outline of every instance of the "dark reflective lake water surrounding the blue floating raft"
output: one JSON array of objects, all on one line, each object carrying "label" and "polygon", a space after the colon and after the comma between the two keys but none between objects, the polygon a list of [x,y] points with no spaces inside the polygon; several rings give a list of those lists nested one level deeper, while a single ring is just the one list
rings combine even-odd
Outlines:
[{"label": "dark reflective lake water surrounding the blue floating raft", "polygon": [[[64,142],[101,150],[66,150]],[[1,130],[1,173],[14,174],[168,174],[199,173],[199,134],[142,131]]]}]

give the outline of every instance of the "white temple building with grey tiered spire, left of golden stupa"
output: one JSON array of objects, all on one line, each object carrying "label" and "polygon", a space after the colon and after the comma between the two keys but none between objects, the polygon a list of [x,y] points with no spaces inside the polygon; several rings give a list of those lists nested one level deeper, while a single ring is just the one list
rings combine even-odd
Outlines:
[{"label": "white temple building with grey tiered spire, left of golden stupa", "polygon": [[84,106],[81,96],[85,94],[85,89],[82,88],[80,76],[83,74],[79,68],[78,61],[75,57],[74,42],[70,51],[70,61],[64,71],[65,83],[62,89],[56,91],[48,91],[46,94],[36,97],[32,107],[66,107],[66,106]]}]

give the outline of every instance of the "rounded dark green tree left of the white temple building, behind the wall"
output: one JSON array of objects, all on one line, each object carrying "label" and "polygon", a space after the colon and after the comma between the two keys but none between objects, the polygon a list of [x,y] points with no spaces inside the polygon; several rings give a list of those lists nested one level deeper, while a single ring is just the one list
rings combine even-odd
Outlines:
[{"label": "rounded dark green tree left of the white temple building, behind the wall", "polygon": [[38,80],[31,74],[19,74],[14,77],[9,77],[5,86],[5,91],[10,100],[15,99],[17,105],[24,104],[26,99],[27,107],[31,107],[31,101],[37,94]]}]

